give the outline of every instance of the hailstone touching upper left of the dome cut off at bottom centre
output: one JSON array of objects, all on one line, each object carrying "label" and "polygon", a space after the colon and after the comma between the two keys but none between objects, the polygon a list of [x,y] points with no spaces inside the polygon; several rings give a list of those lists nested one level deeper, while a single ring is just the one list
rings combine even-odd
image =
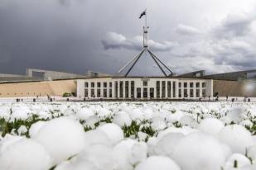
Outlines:
[{"label": "hailstone touching upper left of the dome cut off at bottom centre", "polygon": [[118,143],[113,149],[114,169],[133,170],[133,166],[147,158],[147,144],[133,139]]}]

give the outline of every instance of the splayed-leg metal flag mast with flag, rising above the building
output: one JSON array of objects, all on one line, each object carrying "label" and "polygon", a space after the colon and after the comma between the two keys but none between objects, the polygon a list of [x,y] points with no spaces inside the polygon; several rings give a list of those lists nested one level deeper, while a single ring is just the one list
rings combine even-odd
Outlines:
[{"label": "splayed-leg metal flag mast with flag, rising above the building", "polygon": [[[143,16],[145,16],[145,26],[143,26],[143,48],[142,50],[136,54],[132,60],[130,60],[127,64],[125,64],[123,66],[123,68],[119,69],[118,70],[118,74],[120,74],[125,68],[128,68],[129,65],[131,65],[130,68],[128,68],[128,72],[124,74],[124,77],[127,77],[128,76],[128,73],[131,72],[131,70],[133,69],[134,65],[137,64],[138,62],[138,59],[141,58],[142,54],[144,53],[148,53],[152,59],[154,60],[154,62],[157,64],[158,68],[160,68],[160,70],[162,71],[163,75],[165,77],[172,77],[173,76],[173,72],[171,71],[170,68],[167,67],[166,64],[164,64],[160,59],[157,58],[157,56],[155,54],[152,53],[151,50],[148,49],[148,44],[147,44],[147,9],[142,12],[142,14],[140,15],[139,19],[141,19]],[[162,68],[163,66],[163,68]],[[164,68],[167,69],[167,72],[164,70]],[[169,73],[168,73],[169,72]]]}]

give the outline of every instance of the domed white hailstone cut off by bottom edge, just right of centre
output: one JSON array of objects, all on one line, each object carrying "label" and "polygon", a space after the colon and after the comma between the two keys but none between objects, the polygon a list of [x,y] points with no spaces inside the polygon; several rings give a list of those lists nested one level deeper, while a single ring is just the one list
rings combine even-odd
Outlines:
[{"label": "domed white hailstone cut off by bottom edge, just right of centre", "polygon": [[135,170],[181,170],[181,168],[171,159],[164,156],[151,156],[142,163],[139,163]]}]

